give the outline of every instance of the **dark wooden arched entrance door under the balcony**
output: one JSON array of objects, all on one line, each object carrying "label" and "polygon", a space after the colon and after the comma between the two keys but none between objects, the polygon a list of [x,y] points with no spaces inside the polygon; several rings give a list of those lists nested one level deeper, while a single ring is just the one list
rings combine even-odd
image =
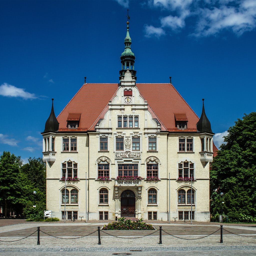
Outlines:
[{"label": "dark wooden arched entrance door under the balcony", "polygon": [[121,194],[121,217],[135,217],[135,194],[124,190]]}]

